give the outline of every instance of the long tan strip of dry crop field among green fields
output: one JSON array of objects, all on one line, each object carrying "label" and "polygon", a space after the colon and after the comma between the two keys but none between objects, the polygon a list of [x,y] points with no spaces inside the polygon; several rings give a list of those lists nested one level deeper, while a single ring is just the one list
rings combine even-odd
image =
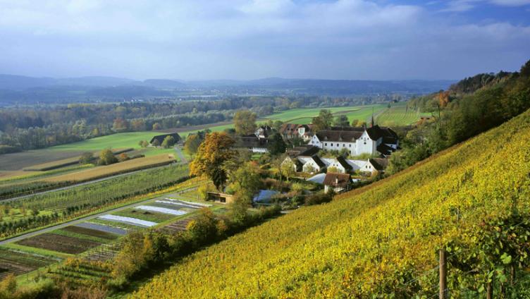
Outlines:
[{"label": "long tan strip of dry crop field among green fields", "polygon": [[125,173],[154,166],[162,166],[173,162],[175,162],[175,156],[168,154],[159,154],[152,157],[130,159],[128,161],[123,161],[106,166],[97,166],[92,169],[78,171],[75,173],[68,173],[62,176],[52,176],[50,178],[45,178],[43,181],[90,181],[97,178],[104,178],[106,176],[113,176],[119,173]]}]

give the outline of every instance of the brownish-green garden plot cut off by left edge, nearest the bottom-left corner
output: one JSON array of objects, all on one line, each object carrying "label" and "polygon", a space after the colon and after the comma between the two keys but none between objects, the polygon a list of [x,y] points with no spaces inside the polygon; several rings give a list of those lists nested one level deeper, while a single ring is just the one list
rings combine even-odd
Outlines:
[{"label": "brownish-green garden plot cut off by left edge, nearest the bottom-left corner", "polygon": [[58,261],[61,259],[11,248],[0,248],[0,280],[8,274],[25,274]]}]

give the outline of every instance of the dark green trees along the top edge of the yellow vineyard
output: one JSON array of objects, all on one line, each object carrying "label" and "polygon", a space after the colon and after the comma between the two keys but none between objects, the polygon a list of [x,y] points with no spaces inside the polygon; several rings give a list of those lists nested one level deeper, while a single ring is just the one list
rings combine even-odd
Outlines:
[{"label": "dark green trees along the top edge of the yellow vineyard", "polygon": [[[399,132],[402,150],[390,156],[388,173],[401,171],[530,109],[530,61],[519,72],[466,78],[447,92],[413,99],[409,106],[430,109],[433,118]],[[506,142],[510,142],[508,137]]]}]

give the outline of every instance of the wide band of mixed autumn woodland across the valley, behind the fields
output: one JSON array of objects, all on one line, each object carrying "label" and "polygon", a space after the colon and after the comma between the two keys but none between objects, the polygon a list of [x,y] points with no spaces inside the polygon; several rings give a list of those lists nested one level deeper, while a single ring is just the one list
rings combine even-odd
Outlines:
[{"label": "wide band of mixed autumn woodland across the valley, behind the fields", "polygon": [[0,154],[62,145],[113,133],[230,121],[238,109],[257,116],[299,107],[369,104],[358,98],[227,97],[221,100],[68,104],[0,108]]}]

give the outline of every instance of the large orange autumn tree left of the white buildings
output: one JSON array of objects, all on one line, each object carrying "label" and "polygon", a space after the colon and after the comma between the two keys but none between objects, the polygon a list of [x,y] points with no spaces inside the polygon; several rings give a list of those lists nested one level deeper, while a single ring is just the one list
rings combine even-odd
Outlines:
[{"label": "large orange autumn tree left of the white buildings", "polygon": [[221,190],[228,178],[223,164],[234,157],[234,142],[224,132],[207,134],[204,142],[199,145],[197,156],[190,163],[190,175],[209,178]]}]

